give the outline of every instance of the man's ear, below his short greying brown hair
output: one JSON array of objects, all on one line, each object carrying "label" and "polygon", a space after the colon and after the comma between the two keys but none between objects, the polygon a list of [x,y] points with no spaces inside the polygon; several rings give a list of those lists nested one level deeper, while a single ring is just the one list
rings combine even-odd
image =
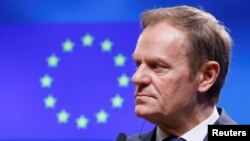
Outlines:
[{"label": "man's ear, below his short greying brown hair", "polygon": [[208,61],[201,68],[200,85],[198,91],[204,93],[209,90],[220,73],[220,65],[216,61]]}]

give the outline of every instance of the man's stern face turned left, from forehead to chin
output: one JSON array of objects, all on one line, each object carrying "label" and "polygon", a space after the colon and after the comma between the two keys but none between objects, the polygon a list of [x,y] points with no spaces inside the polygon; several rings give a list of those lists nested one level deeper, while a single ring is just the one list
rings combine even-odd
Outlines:
[{"label": "man's stern face turned left, from forehead to chin", "polygon": [[192,109],[199,82],[190,80],[189,47],[185,32],[166,22],[151,24],[141,33],[133,53],[137,70],[132,77],[138,116],[160,122]]}]

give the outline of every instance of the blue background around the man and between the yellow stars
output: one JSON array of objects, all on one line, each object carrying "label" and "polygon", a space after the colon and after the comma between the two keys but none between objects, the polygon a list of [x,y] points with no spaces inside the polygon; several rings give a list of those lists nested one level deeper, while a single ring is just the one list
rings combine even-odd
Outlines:
[{"label": "blue background around the man and between the yellow stars", "polygon": [[[0,1],[0,140],[114,140],[120,132],[138,133],[143,120],[134,115],[134,86],[119,87],[117,77],[134,71],[131,54],[140,33],[140,13],[146,9],[192,5],[203,7],[222,21],[234,39],[232,64],[219,106],[240,124],[250,123],[250,2],[247,0],[1,0]],[[83,48],[81,37],[95,37],[92,48]],[[100,49],[104,39],[114,46]],[[61,44],[71,39],[75,48],[64,53]],[[126,56],[124,67],[113,58]],[[46,58],[60,57],[57,68]],[[53,76],[49,89],[41,87],[44,74]],[[46,109],[43,99],[53,93],[55,108]],[[111,97],[124,98],[121,108],[112,108]],[[56,114],[70,112],[67,124]],[[96,122],[100,109],[109,113],[106,123]],[[75,118],[85,114],[90,121],[78,129]],[[145,123],[143,131],[152,125]]]}]

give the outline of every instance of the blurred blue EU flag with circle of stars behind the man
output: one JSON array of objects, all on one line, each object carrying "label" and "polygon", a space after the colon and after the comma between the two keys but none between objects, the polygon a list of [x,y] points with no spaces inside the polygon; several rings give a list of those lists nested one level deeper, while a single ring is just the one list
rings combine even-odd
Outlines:
[{"label": "blurred blue EU flag with circle of stars behind the man", "polygon": [[138,24],[0,31],[1,139],[114,140],[140,131],[130,80]]}]

